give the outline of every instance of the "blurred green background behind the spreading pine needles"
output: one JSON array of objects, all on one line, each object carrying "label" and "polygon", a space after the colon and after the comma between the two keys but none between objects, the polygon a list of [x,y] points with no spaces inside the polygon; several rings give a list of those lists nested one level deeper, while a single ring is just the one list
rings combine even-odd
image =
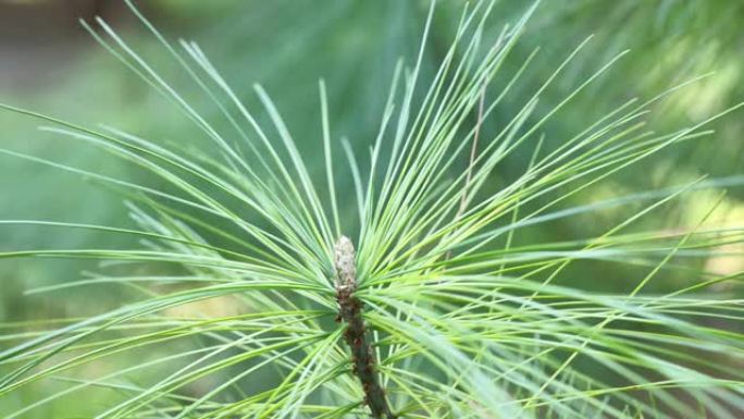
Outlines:
[{"label": "blurred green background behind the spreading pine needles", "polygon": [[[385,94],[398,58],[416,58],[429,1],[419,0],[151,0],[145,14],[170,38],[197,41],[251,109],[258,109],[252,84],[272,95],[303,157],[321,169],[318,79],[328,86],[334,139],[346,136],[364,153],[374,139]],[[445,0],[436,10],[424,57],[431,75],[451,39],[463,2]],[[531,1],[500,1],[493,27],[513,21]],[[102,15],[156,69],[172,77],[179,91],[195,99],[204,114],[213,106],[196,95],[186,76],[147,29],[119,1],[0,1],[0,101],[33,109],[83,125],[104,124],[183,147],[203,147],[200,133],[157,93],[141,83],[88,36],[77,22]],[[544,1],[514,51],[514,67],[535,47],[541,53],[506,102],[521,106],[557,63],[588,35],[595,37],[540,102],[555,106],[581,81],[624,49],[632,52],[593,84],[545,131],[559,144],[631,97],[650,98],[695,75],[716,73],[655,107],[650,125],[658,131],[689,126],[744,99],[744,2],[732,0],[553,0]],[[259,112],[260,113],[260,112]],[[538,111],[537,114],[541,112]],[[485,130],[495,130],[510,113],[497,112]],[[147,183],[146,175],[83,143],[42,133],[38,121],[0,112],[2,148],[52,159],[95,172]],[[573,204],[634,190],[690,182],[702,174],[744,174],[742,113],[711,126],[716,135],[687,141],[627,170],[602,186],[572,198]],[[208,151],[206,151],[208,152]],[[503,182],[524,168],[529,153],[498,169]],[[462,162],[463,167],[466,162]],[[318,172],[320,173],[320,172]],[[351,194],[349,176],[339,176]],[[648,229],[687,225],[707,210],[710,193],[683,198],[668,217],[646,222]],[[570,202],[569,202],[570,205]],[[518,237],[555,242],[598,234],[628,212],[593,214],[591,222],[567,220]],[[0,156],[0,219],[33,219],[131,226],[122,198],[78,175],[17,158]],[[731,188],[717,225],[742,224],[744,189]],[[108,248],[129,246],[127,238],[95,232],[48,227],[0,229],[0,251],[25,248]],[[744,269],[739,259],[703,260],[711,270]],[[0,260],[0,316],[4,321],[77,317],[121,304],[126,291],[75,288],[59,294],[23,296],[23,292],[79,278],[95,270],[89,261]],[[622,291],[622,270],[599,271],[592,263],[572,272],[573,285]],[[595,279],[600,275],[602,282]],[[669,281],[686,281],[671,278]],[[679,283],[661,283],[674,287]],[[95,298],[91,298],[95,297]],[[22,399],[14,403],[23,404]],[[102,403],[102,402],[101,402]],[[50,405],[36,411],[52,417],[64,410]],[[0,409],[0,412],[2,409]],[[46,415],[46,416],[45,416]]]}]

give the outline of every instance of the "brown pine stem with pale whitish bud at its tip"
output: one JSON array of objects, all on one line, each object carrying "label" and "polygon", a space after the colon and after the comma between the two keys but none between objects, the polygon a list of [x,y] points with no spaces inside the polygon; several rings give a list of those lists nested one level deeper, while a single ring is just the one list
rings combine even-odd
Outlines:
[{"label": "brown pine stem with pale whitish bud at its tip", "polygon": [[357,272],[355,268],[354,244],[346,236],[340,236],[334,248],[336,269],[336,300],[338,301],[338,320],[348,323],[344,338],[351,349],[352,370],[359,378],[364,391],[364,403],[372,410],[375,419],[395,419],[385,397],[385,390],[375,371],[376,360],[372,343],[361,311],[362,301],[354,293],[357,291]]}]

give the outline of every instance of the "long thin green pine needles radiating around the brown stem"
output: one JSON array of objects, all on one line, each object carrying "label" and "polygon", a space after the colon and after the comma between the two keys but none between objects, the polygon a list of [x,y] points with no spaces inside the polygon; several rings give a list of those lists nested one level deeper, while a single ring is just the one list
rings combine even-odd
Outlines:
[{"label": "long thin green pine needles radiating around the brown stem", "polygon": [[[3,225],[140,239],[134,248],[0,254],[106,262],[91,278],[32,293],[94,285],[134,292],[104,313],[5,324],[0,400],[11,408],[2,412],[33,415],[75,393],[95,392],[106,394],[102,403],[80,406],[79,415],[367,415],[343,340],[346,323],[334,321],[339,307],[333,249],[348,235],[357,247],[354,296],[363,305],[375,372],[400,418],[740,416],[744,377],[736,366],[744,360],[744,337],[731,324],[742,320],[742,300],[709,289],[740,281],[742,272],[720,274],[699,261],[731,256],[722,246],[742,243],[742,227],[710,224],[722,194],[707,200],[684,230],[643,223],[679,199],[717,194],[744,178],[700,177],[574,202],[671,146],[710,139],[709,124],[741,104],[682,130],[647,131],[643,120],[652,107],[703,78],[696,77],[650,99],[620,102],[570,136],[556,136],[547,127],[624,52],[543,104],[590,40],[566,53],[542,84],[524,86],[537,51],[520,53],[518,47],[536,7],[493,36],[489,19],[497,5],[466,9],[451,47],[429,77],[432,8],[418,59],[396,67],[377,133],[363,153],[347,140],[339,150],[321,82],[315,147],[323,151],[323,173],[309,168],[261,86],[255,91],[262,110],[252,111],[196,44],[171,44],[133,8],[190,78],[188,96],[199,93],[221,111],[206,118],[99,21],[102,33],[90,34],[183,112],[208,146],[153,141],[2,106],[41,120],[46,132],[120,158],[148,180],[2,150],[113,188],[126,197],[138,227],[34,220]],[[531,93],[517,106],[514,90],[525,88]],[[496,118],[504,122],[489,125]],[[520,153],[530,158],[513,159]],[[514,161],[524,163],[521,170],[499,178],[506,176],[497,169]],[[351,180],[351,194],[338,188],[342,177]],[[520,239],[565,219],[596,220],[603,211],[623,215],[592,236]],[[598,267],[596,276],[575,278],[572,269],[582,264]],[[578,286],[611,271],[634,275],[622,293]],[[652,292],[665,275],[686,282]]]}]

